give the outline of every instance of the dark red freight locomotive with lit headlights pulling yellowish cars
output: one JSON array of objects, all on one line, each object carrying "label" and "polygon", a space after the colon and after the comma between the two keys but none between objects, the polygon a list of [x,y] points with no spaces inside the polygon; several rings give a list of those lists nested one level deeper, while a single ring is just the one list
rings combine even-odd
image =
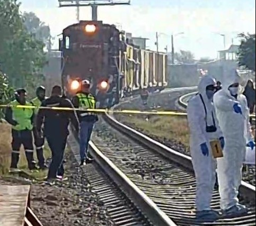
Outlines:
[{"label": "dark red freight locomotive with lit headlights pulling yellowish cars", "polygon": [[[167,86],[167,55],[141,49],[113,24],[80,21],[67,26],[59,40],[61,84],[68,97],[87,79],[101,106],[120,98]],[[111,101],[110,101],[111,100]],[[114,101],[113,101],[114,100]]]}]

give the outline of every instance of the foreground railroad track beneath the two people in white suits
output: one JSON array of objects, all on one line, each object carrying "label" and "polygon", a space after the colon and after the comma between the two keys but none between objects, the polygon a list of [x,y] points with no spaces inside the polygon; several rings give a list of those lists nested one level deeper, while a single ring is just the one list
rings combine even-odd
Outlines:
[{"label": "foreground railroad track beneath the two people in white suits", "polygon": [[[110,218],[116,220],[113,225],[255,225],[254,186],[245,182],[241,186],[241,202],[250,210],[247,215],[212,223],[198,222],[194,213],[196,181],[190,157],[121,124],[113,115],[100,118],[92,141],[90,152],[96,160],[94,164],[114,183],[110,179],[103,182],[97,172],[88,176],[94,186],[99,186],[94,188],[95,193],[102,194],[103,202],[104,198],[109,202],[104,205],[110,207]],[[69,144],[78,150],[77,142]],[[110,188],[109,183],[115,187]],[[124,192],[131,202],[122,192],[113,194],[114,189]],[[133,208],[128,210],[122,200]],[[214,192],[211,205],[219,209],[218,191]],[[140,223],[133,221],[138,215]]]}]

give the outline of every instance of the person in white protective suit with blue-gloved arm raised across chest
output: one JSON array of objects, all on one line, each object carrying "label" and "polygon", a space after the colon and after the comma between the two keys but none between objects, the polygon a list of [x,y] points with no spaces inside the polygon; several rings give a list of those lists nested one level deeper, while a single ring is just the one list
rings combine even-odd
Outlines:
[{"label": "person in white protective suit with blue-gloved arm raised across chest", "polygon": [[239,204],[237,195],[242,179],[242,165],[246,144],[253,150],[253,134],[249,122],[246,97],[239,94],[240,77],[236,70],[229,71],[222,90],[214,95],[214,105],[220,129],[225,139],[223,158],[217,159],[220,208],[224,216],[237,216],[247,212]]}]

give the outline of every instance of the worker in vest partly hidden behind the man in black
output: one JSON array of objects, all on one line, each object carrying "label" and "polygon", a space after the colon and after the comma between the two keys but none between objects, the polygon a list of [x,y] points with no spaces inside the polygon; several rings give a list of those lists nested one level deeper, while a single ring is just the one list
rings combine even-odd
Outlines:
[{"label": "worker in vest partly hidden behind the man in black", "polygon": [[[46,99],[46,88],[43,86],[39,86],[36,90],[36,95],[37,97],[33,98],[33,100],[31,100],[31,103],[33,104],[33,106],[37,107],[36,110],[34,110],[34,113],[37,115],[42,101]],[[36,120],[34,120],[34,123],[33,123],[33,136],[34,136],[34,145],[36,146],[36,150],[37,150],[38,165],[40,169],[46,169],[47,166],[45,165],[45,157],[43,156],[45,136],[43,134],[42,134],[43,135],[42,137],[39,136],[35,121]]]}]

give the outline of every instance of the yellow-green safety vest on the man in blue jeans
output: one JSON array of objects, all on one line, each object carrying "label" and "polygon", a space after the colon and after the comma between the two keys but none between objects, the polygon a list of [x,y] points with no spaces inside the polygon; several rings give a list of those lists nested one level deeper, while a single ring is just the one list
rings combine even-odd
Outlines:
[{"label": "yellow-green safety vest on the man in blue jeans", "polygon": [[[79,99],[79,107],[81,109],[95,109],[96,107],[96,100],[95,97],[92,94],[85,95],[83,93],[78,93],[76,96]],[[86,115],[94,115],[94,112],[82,112],[80,116],[86,116]]]}]

